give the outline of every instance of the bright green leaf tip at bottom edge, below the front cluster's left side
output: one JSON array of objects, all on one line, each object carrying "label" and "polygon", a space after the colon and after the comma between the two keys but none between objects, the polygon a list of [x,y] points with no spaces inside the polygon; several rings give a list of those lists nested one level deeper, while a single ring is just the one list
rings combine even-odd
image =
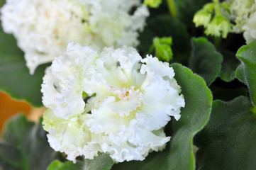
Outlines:
[{"label": "bright green leaf tip at bottom edge, below the front cluster's left side", "polygon": [[59,160],[55,160],[48,166],[47,170],[82,170],[83,166],[82,161],[77,161],[77,163],[74,164],[70,161],[62,163]]}]

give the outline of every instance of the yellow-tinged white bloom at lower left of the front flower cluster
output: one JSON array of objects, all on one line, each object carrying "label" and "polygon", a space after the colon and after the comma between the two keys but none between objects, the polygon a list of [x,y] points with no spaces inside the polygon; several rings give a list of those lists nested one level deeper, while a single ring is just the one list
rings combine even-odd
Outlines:
[{"label": "yellow-tinged white bloom at lower left of the front flower cluster", "polygon": [[48,109],[43,115],[43,128],[47,135],[50,147],[55,151],[65,152],[67,159],[76,162],[76,157],[84,155],[85,159],[93,159],[101,151],[97,135],[89,132],[85,120],[87,114],[64,120],[57,118],[52,110]]}]

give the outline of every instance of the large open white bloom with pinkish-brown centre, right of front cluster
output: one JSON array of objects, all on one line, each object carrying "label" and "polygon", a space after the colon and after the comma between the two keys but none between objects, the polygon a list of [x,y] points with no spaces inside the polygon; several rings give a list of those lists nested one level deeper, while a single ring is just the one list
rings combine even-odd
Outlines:
[{"label": "large open white bloom with pinkish-brown centre, right of front cluster", "polygon": [[105,48],[100,56],[88,73],[89,85],[84,84],[87,94],[96,94],[86,104],[89,130],[104,134],[101,149],[115,161],[143,160],[169,141],[162,128],[169,115],[178,120],[184,107],[174,71],[156,57],[142,59],[130,47]]}]

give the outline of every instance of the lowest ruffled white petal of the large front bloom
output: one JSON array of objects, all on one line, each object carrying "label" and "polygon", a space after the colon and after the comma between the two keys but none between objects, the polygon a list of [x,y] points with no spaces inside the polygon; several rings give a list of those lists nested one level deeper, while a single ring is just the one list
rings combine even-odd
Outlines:
[{"label": "lowest ruffled white petal of the large front bloom", "polygon": [[128,128],[122,126],[116,134],[103,137],[101,149],[108,152],[116,162],[142,161],[150,151],[161,150],[169,141],[170,137],[165,137],[163,130],[159,131],[151,132],[132,120]]}]

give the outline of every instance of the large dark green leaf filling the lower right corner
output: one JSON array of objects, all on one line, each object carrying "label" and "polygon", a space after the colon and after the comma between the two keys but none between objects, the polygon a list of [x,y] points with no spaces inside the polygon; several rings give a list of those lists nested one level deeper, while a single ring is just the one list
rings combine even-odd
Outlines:
[{"label": "large dark green leaf filling the lower right corner", "polygon": [[255,169],[256,114],[248,98],[214,101],[211,118],[195,137],[199,170]]}]

